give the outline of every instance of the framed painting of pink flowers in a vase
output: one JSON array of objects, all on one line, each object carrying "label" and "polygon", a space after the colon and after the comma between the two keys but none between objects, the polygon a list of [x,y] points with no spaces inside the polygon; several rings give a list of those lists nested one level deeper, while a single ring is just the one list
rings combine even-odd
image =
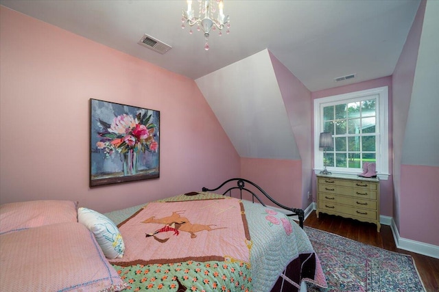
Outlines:
[{"label": "framed painting of pink flowers in a vase", "polygon": [[158,178],[160,111],[90,99],[90,186]]}]

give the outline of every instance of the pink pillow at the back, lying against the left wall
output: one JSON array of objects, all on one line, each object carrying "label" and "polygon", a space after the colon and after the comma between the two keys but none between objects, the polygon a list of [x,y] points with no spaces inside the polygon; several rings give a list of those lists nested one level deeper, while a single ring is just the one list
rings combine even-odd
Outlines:
[{"label": "pink pillow at the back, lying against the left wall", "polygon": [[78,222],[77,203],[38,200],[0,205],[0,235],[60,222]]}]

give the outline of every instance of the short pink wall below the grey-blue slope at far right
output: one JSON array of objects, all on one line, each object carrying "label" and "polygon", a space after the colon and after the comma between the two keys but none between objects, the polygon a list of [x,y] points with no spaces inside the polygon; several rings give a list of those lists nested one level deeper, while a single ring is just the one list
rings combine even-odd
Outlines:
[{"label": "short pink wall below the grey-blue slope at far right", "polygon": [[438,167],[401,165],[402,238],[439,246],[438,178]]}]

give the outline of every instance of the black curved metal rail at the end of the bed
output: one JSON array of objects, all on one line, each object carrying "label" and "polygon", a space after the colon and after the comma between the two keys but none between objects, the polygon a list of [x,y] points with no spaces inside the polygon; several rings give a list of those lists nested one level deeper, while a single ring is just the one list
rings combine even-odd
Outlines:
[{"label": "black curved metal rail at the end of the bed", "polygon": [[227,181],[225,181],[224,183],[222,183],[221,185],[219,185],[219,187],[216,187],[215,189],[208,189],[207,187],[203,187],[202,191],[216,191],[217,189],[221,189],[222,187],[224,187],[224,185],[226,185],[227,183],[230,183],[233,181],[236,181],[237,185],[229,187],[226,191],[224,191],[223,195],[225,195],[228,192],[228,196],[232,196],[232,190],[239,189],[240,199],[242,199],[242,191],[248,191],[248,193],[252,194],[252,202],[254,202],[254,198],[256,198],[263,206],[265,206],[265,204],[262,202],[262,200],[259,198],[259,196],[257,196],[257,194],[254,194],[253,191],[246,188],[245,184],[248,183],[249,185],[252,185],[253,187],[257,188],[259,191],[261,191],[261,194],[263,194],[265,197],[268,198],[268,200],[270,200],[274,204],[276,204],[276,206],[292,212],[291,214],[287,214],[287,216],[296,216],[297,215],[298,220],[299,220],[299,225],[300,225],[300,227],[303,228],[303,220],[305,219],[305,212],[302,209],[286,207],[283,204],[276,202],[276,200],[274,200],[272,197],[270,197],[263,189],[261,189],[261,187],[259,187],[259,185],[257,185],[256,183],[252,183],[251,181],[248,181],[245,178],[230,178]]}]

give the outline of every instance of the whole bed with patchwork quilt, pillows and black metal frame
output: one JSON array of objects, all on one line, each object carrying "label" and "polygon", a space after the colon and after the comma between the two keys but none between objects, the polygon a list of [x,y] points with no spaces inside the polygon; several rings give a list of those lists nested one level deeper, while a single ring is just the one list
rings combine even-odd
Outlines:
[{"label": "whole bed with patchwork quilt, pillows and black metal frame", "polygon": [[303,211],[279,204],[244,178],[105,214],[76,209],[74,202],[35,202],[0,207],[1,291],[326,287],[300,228]]}]

